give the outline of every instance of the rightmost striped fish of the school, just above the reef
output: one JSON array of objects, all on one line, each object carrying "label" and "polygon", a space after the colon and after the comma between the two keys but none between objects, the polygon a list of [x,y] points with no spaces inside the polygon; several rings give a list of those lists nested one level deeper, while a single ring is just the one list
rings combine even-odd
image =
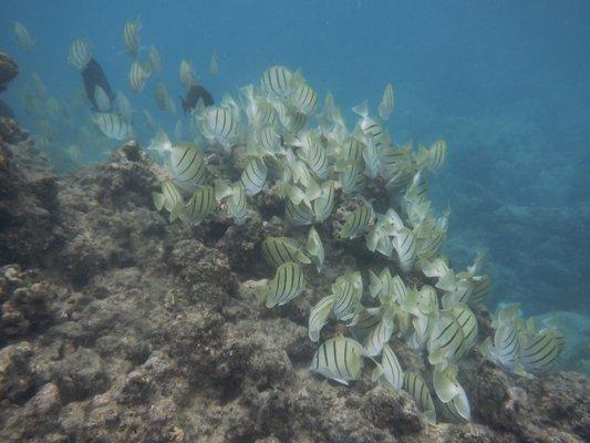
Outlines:
[{"label": "rightmost striped fish of the school, just above the reef", "polygon": [[555,329],[520,333],[520,361],[525,370],[536,375],[550,370],[563,349],[561,339]]}]

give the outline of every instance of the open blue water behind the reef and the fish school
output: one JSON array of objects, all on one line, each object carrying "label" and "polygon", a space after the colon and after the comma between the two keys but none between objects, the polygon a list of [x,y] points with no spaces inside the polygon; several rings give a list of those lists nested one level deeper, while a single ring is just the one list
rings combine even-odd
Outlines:
[{"label": "open blue water behind the reef and the fish school", "polygon": [[[284,64],[301,68],[321,96],[332,91],[350,126],[350,109],[368,99],[375,110],[392,82],[395,142],[448,141],[432,199],[453,209],[454,262],[488,250],[490,307],[519,301],[528,315],[590,316],[589,2],[4,0],[1,9],[0,45],[22,72],[3,99],[25,126],[33,124],[20,103],[27,75],[37,71],[51,95],[74,96],[80,74],[65,56],[84,35],[112,86],[173,131],[176,116],[157,110],[153,79],[139,96],[126,86],[122,29],[134,19],[142,45],[159,49],[174,97],[183,58],[216,99]],[[14,43],[13,20],[29,28],[34,52]],[[207,73],[214,49],[216,78]],[[139,140],[151,136],[143,128]]]}]

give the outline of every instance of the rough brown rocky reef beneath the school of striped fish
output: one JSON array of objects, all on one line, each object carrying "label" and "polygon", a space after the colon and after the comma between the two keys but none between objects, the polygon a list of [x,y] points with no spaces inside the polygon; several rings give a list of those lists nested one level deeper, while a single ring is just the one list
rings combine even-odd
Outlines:
[{"label": "rough brown rocky reef beneath the school of striped fish", "polygon": [[590,440],[590,384],[573,372],[524,379],[474,349],[459,373],[473,421],[435,426],[370,371],[348,388],[311,373],[310,306],[366,257],[329,244],[303,297],[260,307],[260,241],[287,231],[271,192],[242,226],[190,227],[153,207],[162,171],[136,143],[56,176],[14,122],[0,137],[0,441]]}]

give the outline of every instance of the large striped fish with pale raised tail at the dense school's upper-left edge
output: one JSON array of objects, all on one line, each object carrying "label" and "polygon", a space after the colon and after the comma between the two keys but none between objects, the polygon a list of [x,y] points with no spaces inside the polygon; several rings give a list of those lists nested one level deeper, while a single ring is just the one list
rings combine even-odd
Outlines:
[{"label": "large striped fish with pale raised tail at the dense school's upper-left edge", "polygon": [[176,184],[186,192],[195,192],[209,176],[205,154],[193,143],[173,145],[166,133],[159,130],[147,148],[169,154],[166,166]]}]

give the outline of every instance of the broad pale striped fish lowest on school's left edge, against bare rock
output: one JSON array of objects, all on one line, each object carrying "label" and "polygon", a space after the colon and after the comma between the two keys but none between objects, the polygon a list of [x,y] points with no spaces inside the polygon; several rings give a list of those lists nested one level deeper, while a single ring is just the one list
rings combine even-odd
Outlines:
[{"label": "broad pale striped fish lowest on school's left edge, against bare rock", "polygon": [[325,340],[311,359],[310,369],[342,384],[359,380],[363,369],[361,344],[349,338]]}]

